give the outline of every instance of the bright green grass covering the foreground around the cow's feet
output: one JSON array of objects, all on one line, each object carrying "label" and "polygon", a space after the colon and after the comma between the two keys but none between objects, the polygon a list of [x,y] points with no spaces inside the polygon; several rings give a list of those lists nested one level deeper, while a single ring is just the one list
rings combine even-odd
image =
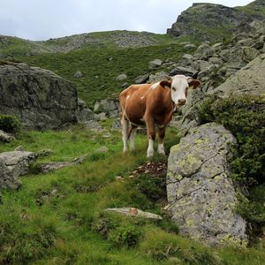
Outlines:
[{"label": "bright green grass covering the foreground around the cow's feet", "polygon": [[[110,130],[106,123],[105,130]],[[145,135],[137,135],[136,150],[122,154],[121,135],[75,127],[61,132],[21,132],[18,145],[30,151],[51,148],[53,155],[39,163],[68,161],[90,154],[84,163],[49,174],[21,178],[19,191],[2,192],[0,205],[0,263],[12,264],[262,264],[264,245],[249,249],[210,248],[178,235],[155,196],[165,190],[159,177],[129,178],[130,172],[148,162]],[[178,132],[169,128],[166,150],[178,143]],[[62,144],[64,143],[64,144]],[[110,151],[91,159],[96,150]],[[155,156],[154,161],[163,157]],[[116,176],[123,176],[124,182]],[[161,181],[165,178],[161,176]],[[104,208],[136,207],[163,216],[148,221],[104,212]],[[264,263],[263,263],[264,264]]]}]

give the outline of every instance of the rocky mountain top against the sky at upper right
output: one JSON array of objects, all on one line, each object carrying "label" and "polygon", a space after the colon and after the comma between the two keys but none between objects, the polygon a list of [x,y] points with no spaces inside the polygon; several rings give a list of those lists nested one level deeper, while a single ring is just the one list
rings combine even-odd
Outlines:
[{"label": "rocky mountain top against the sky at upper right", "polygon": [[242,8],[230,8],[221,4],[193,4],[178,16],[177,22],[167,33],[176,37],[187,35],[201,41],[224,41],[231,37],[235,27],[240,24],[265,19],[264,9],[262,0]]}]

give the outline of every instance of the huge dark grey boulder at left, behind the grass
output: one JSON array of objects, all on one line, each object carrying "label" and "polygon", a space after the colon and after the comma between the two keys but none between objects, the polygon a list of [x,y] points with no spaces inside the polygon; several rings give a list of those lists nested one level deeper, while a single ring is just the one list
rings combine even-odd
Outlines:
[{"label": "huge dark grey boulder at left, behind the grass", "polygon": [[0,113],[15,115],[34,129],[77,122],[76,88],[54,72],[27,64],[0,65]]}]

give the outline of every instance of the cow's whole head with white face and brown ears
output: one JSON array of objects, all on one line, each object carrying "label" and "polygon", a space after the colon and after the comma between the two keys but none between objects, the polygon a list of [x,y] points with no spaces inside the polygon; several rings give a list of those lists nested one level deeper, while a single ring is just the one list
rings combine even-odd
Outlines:
[{"label": "cow's whole head with white face and brown ears", "polygon": [[201,81],[178,74],[171,77],[169,81],[161,81],[160,85],[162,87],[170,87],[171,100],[177,107],[179,107],[186,103],[188,88],[193,87],[193,89],[195,89],[196,87],[199,87]]}]

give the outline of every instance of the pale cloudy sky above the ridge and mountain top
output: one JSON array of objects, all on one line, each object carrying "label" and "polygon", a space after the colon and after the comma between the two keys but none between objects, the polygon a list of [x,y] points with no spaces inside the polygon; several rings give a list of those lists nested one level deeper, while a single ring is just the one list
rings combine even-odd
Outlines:
[{"label": "pale cloudy sky above the ridge and mountain top", "polygon": [[32,41],[109,30],[166,33],[193,3],[253,0],[0,0],[0,34]]}]

